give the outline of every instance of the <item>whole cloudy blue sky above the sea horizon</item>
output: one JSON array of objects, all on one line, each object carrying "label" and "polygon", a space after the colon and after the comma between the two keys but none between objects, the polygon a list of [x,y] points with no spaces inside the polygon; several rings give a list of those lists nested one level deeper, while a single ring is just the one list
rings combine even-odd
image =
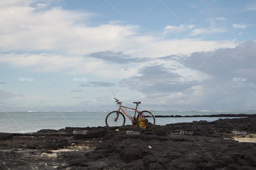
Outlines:
[{"label": "whole cloudy blue sky above the sea horizon", "polygon": [[[0,111],[256,110],[256,1],[0,1]],[[108,88],[109,86],[109,88]]]}]

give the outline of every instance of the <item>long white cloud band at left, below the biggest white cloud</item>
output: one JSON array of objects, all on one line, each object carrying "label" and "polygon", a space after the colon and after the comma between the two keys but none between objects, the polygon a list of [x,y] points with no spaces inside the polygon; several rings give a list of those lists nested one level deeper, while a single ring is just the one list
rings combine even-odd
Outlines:
[{"label": "long white cloud band at left, below the biggest white cloud", "polygon": [[[111,78],[123,78],[136,75],[137,69],[130,67],[122,69],[117,63],[106,63],[103,60],[97,60],[91,57],[82,56],[61,56],[50,54],[3,54],[0,63],[11,63],[15,68],[25,69],[31,73],[34,71],[41,73],[51,73],[63,71],[71,75],[74,74],[92,74],[94,76]],[[8,60],[8,61],[6,61]],[[72,72],[71,72],[72,71]],[[116,74],[116,73],[119,74]]]}]

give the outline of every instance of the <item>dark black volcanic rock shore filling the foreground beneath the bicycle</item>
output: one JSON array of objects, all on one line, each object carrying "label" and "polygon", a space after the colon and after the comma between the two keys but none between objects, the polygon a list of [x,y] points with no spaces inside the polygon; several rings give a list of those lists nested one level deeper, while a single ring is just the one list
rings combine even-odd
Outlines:
[{"label": "dark black volcanic rock shore filling the foreground beneath the bicycle", "polygon": [[153,130],[128,125],[0,133],[0,169],[253,170],[256,143],[233,139],[255,139],[255,125],[247,117]]}]

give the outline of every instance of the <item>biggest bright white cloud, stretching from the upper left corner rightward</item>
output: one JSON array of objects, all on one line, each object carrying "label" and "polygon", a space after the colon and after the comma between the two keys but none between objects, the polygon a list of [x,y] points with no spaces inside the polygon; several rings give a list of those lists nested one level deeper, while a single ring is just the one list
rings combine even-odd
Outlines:
[{"label": "biggest bright white cloud, stretching from the upper left corner rightward", "polygon": [[[7,2],[7,1],[6,1]],[[46,3],[47,4],[47,3]],[[36,53],[49,55],[84,56],[101,51],[120,51],[133,58],[160,57],[178,53],[190,54],[195,51],[208,50],[203,43],[214,49],[221,41],[198,41],[198,39],[161,39],[154,34],[139,34],[138,29],[127,28],[126,25],[110,24],[92,25],[90,18],[85,23],[84,18],[91,14],[75,10],[63,10],[51,3],[45,10],[32,6],[29,2],[10,6],[14,14],[5,6],[0,6],[0,48],[4,53],[19,52],[19,54]],[[41,12],[42,11],[42,12]],[[41,13],[40,13],[41,12]],[[39,14],[40,13],[40,14]],[[58,23],[58,24],[56,24]],[[117,23],[117,21],[115,21]],[[118,21],[118,23],[120,23]],[[20,25],[23,24],[24,28]],[[120,23],[121,24],[121,23]],[[77,25],[77,27],[73,27]],[[79,27],[86,26],[86,27]],[[29,28],[26,26],[33,26]],[[175,26],[167,26],[163,32],[183,31]],[[7,47],[6,45],[11,42]],[[195,44],[193,49],[178,48]],[[169,44],[169,45],[168,45]],[[223,46],[233,47],[233,42],[227,41]],[[167,47],[166,47],[167,46]],[[6,47],[6,48],[5,48]],[[169,48],[175,47],[175,48]],[[159,52],[161,52],[159,54]],[[55,56],[55,55],[52,56]],[[37,59],[30,62],[38,62]],[[29,62],[29,63],[30,63]],[[42,61],[43,62],[43,61]],[[117,61],[118,62],[118,61]],[[25,62],[24,62],[25,63]]]}]

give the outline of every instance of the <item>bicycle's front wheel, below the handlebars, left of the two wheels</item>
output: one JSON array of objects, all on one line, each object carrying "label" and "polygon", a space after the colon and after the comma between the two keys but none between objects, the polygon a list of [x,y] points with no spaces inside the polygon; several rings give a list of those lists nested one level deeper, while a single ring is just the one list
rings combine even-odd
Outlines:
[{"label": "bicycle's front wheel, below the handlebars, left of the two wheels", "polygon": [[[118,111],[111,111],[109,114],[107,114],[106,117],[106,126],[110,127],[110,126],[118,126],[118,127],[122,127],[123,125],[125,125],[125,116],[123,115],[123,113],[119,112],[118,118],[117,118],[117,114]],[[115,120],[117,118],[117,120]]]}]

